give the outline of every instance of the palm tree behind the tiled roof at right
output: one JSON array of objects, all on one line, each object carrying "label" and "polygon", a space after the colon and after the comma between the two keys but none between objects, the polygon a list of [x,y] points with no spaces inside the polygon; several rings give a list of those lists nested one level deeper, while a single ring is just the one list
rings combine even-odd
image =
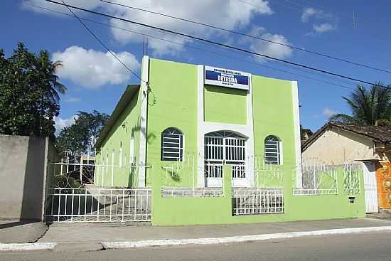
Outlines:
[{"label": "palm tree behind the tiled roof at right", "polygon": [[331,116],[330,120],[358,125],[391,125],[391,85],[386,88],[380,85],[382,83],[377,82],[370,90],[357,85],[350,97],[343,97],[352,115],[338,113]]}]

